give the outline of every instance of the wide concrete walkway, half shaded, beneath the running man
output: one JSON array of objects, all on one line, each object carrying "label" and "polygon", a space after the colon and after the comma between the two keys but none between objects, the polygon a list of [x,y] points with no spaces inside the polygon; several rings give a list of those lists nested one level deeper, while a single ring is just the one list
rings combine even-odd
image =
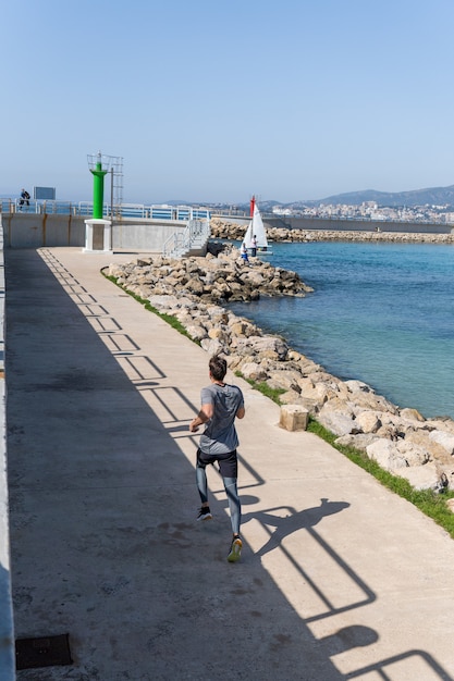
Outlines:
[{"label": "wide concrete walkway, half shaded, beneath the running man", "polygon": [[8,250],[15,635],[70,634],[19,680],[454,679],[454,541],[245,394],[244,549],[187,425],[208,356],[99,274],[135,253]]}]

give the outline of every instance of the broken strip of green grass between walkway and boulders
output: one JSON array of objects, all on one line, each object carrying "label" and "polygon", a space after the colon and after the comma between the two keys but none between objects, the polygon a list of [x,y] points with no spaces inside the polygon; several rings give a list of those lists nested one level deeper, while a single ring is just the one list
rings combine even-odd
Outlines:
[{"label": "broken strip of green grass between walkway and boulders", "polygon": [[[106,278],[108,278],[113,284],[119,286],[122,290],[132,296],[147,310],[160,317],[164,322],[170,324],[183,336],[186,336],[197,345],[200,345],[198,340],[193,338],[187,333],[183,324],[181,324],[181,322],[179,322],[175,317],[173,317],[172,314],[159,312],[159,310],[157,310],[148,300],[144,300],[144,298],[140,298],[140,296],[137,296],[133,292],[124,288],[121,284],[119,284],[114,276],[108,276],[107,274],[103,274],[103,276],[106,276]],[[245,376],[243,376],[241,371],[235,371],[235,375],[246,381],[254,389],[259,391],[259,393],[261,393],[269,399],[272,399],[272,401],[277,405],[282,405],[280,396],[286,392],[284,388],[271,388],[265,381],[257,382],[253,381],[251,379],[246,379]],[[359,466],[365,471],[373,475],[373,478],[378,480],[384,487],[386,487],[391,492],[394,492],[394,494],[398,494],[398,496],[416,506],[422,513],[434,520],[434,522],[441,525],[450,534],[450,536],[454,538],[454,513],[451,512],[446,506],[446,500],[450,498],[454,498],[454,492],[442,492],[441,494],[437,494],[431,490],[415,490],[414,487],[412,487],[407,480],[405,480],[404,478],[398,478],[398,475],[393,475],[389,471],[385,471],[383,468],[381,468],[377,463],[377,461],[369,459],[366,453],[360,451],[359,449],[355,449],[354,447],[335,444],[338,435],[334,435],[334,433],[328,431],[312,418],[309,419],[307,431],[309,433],[314,433],[315,435],[330,444],[332,447],[334,447],[334,449],[338,449],[338,451],[340,451],[351,461],[353,461],[353,463],[356,463],[356,466]]]}]

